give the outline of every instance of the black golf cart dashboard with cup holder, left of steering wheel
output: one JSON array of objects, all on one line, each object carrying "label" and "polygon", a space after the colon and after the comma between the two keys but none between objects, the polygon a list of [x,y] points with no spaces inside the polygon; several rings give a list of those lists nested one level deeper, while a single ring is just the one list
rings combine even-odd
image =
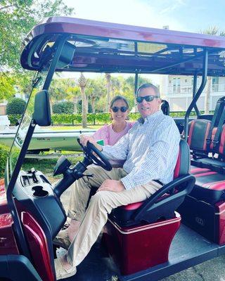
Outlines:
[{"label": "black golf cart dashboard with cup holder, left of steering wheel", "polygon": [[65,210],[41,171],[20,171],[13,195],[21,211],[31,211],[40,225],[49,228],[52,237],[56,236],[65,222]]}]

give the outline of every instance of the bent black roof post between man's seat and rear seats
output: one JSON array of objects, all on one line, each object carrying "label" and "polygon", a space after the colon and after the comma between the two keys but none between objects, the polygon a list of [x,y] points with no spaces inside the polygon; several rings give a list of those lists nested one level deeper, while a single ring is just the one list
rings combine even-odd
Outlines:
[{"label": "bent black roof post between man's seat and rear seats", "polygon": [[188,107],[188,110],[186,111],[185,117],[184,117],[184,139],[185,141],[188,141],[188,119],[191,114],[191,110],[193,110],[193,107],[196,105],[198,98],[200,97],[200,94],[203,92],[203,89],[205,88],[205,84],[207,81],[207,66],[208,66],[208,51],[204,51],[203,56],[203,76],[202,76],[202,83],[200,84],[200,87],[195,94],[191,104]]}]

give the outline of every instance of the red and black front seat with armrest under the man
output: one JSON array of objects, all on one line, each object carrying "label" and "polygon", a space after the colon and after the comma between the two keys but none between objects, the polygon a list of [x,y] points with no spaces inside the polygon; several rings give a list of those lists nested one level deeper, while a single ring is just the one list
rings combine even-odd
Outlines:
[{"label": "red and black front seat with armrest under the man", "polygon": [[174,169],[174,180],[162,186],[144,202],[128,204],[113,209],[110,221],[119,226],[133,226],[141,222],[153,223],[161,218],[174,218],[174,211],[191,192],[195,183],[189,173],[190,151],[185,141],[180,141],[179,156]]}]

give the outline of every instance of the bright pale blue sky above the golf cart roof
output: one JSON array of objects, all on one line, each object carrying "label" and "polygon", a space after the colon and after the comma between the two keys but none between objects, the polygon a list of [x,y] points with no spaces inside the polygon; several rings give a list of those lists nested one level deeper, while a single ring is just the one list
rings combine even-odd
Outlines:
[{"label": "bright pale blue sky above the golf cart roof", "polygon": [[225,30],[225,0],[65,0],[75,17],[170,30]]}]

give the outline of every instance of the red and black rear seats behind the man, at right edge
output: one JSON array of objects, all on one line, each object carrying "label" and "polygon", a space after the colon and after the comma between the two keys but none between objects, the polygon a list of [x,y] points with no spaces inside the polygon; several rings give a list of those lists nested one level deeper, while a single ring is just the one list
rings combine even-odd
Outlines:
[{"label": "red and black rear seats behind the man, at right edge", "polygon": [[[195,186],[191,196],[214,204],[224,200],[225,190],[225,99],[219,98],[212,117],[195,119],[189,124],[188,145],[193,151],[191,174]],[[212,155],[209,157],[209,153]]]}]

